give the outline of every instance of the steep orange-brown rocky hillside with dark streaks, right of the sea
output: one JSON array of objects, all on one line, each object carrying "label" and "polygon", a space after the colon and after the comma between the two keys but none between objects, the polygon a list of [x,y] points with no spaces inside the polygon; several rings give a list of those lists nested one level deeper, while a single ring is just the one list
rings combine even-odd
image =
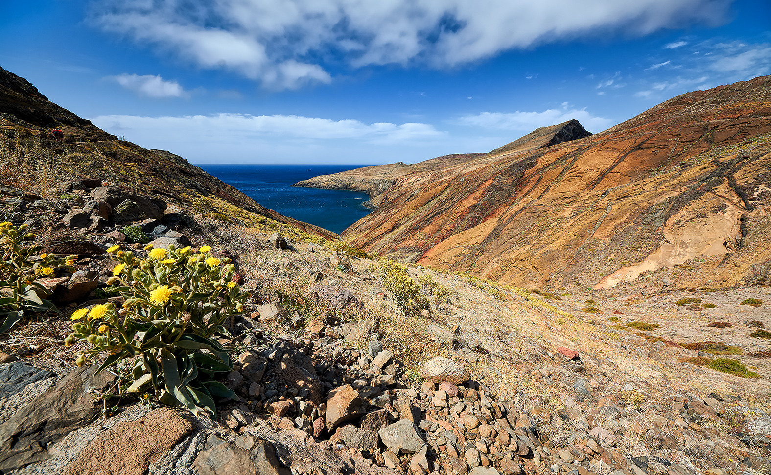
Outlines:
[{"label": "steep orange-brown rocky hillside with dark streaks, right of the sea", "polygon": [[[731,285],[771,258],[769,151],[765,76],[683,94],[580,140],[510,144],[396,177],[344,235],[366,251],[513,285],[609,288],[711,257],[692,284]],[[365,170],[379,169],[346,173],[374,180]]]}]

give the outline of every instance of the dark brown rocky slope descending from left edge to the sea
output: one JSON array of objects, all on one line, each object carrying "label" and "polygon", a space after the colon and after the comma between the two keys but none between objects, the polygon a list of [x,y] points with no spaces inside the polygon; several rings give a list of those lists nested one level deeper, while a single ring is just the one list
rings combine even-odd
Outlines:
[{"label": "dark brown rocky slope descending from left edge to the sea", "polygon": [[[195,206],[201,213],[223,219],[254,221],[266,217],[336,238],[331,231],[268,210],[178,155],[119,140],[50,102],[26,79],[2,68],[0,157],[0,170],[8,184],[24,184],[42,196],[55,192],[53,182],[63,177],[99,176],[128,190],[150,193],[170,204]],[[231,213],[233,206],[244,214]]]}]

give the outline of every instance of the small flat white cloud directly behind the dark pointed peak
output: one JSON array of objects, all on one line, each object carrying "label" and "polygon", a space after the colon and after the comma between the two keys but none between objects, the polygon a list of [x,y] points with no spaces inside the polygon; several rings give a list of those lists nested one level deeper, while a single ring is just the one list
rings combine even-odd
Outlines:
[{"label": "small flat white cloud directly behind the dark pointed peak", "polygon": [[542,112],[523,112],[519,110],[513,113],[483,112],[460,117],[458,123],[484,129],[530,133],[538,127],[552,126],[573,119],[580,122],[586,130],[594,133],[601,132],[613,125],[610,119],[594,116],[586,109],[568,109],[565,104],[563,104],[562,109],[547,109]]}]

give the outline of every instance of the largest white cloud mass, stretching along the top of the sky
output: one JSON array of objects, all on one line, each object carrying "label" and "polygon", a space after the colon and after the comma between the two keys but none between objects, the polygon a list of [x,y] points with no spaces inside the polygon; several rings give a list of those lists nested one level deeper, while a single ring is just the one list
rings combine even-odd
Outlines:
[{"label": "largest white cloud mass, stretching along the top of the sky", "polygon": [[[273,89],[329,83],[327,63],[448,67],[576,36],[719,22],[731,0],[93,0],[92,21]],[[674,45],[675,43],[672,43]],[[674,46],[672,46],[674,47]],[[334,58],[334,59],[331,59]]]}]

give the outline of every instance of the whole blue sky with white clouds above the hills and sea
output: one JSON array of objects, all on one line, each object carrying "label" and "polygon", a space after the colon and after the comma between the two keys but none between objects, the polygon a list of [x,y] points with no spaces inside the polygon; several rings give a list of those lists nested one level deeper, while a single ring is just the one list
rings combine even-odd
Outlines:
[{"label": "whole blue sky with white clouds above the hills and sea", "polygon": [[414,163],[771,74],[767,0],[0,2],[0,66],[193,163]]}]

